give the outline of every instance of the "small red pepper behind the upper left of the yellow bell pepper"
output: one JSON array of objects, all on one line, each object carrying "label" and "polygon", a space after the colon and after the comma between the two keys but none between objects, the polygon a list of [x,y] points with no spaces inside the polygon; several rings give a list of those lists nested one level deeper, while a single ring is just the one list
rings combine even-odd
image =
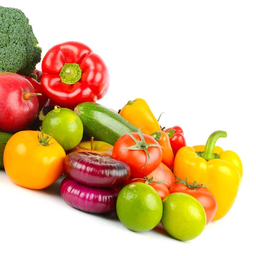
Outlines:
[{"label": "small red pepper behind the upper left of the yellow bell pepper", "polygon": [[172,151],[174,154],[174,157],[177,154],[177,151],[186,146],[186,140],[184,137],[183,130],[180,126],[173,126],[171,128],[167,128],[164,130],[170,139],[170,143],[172,146]]}]

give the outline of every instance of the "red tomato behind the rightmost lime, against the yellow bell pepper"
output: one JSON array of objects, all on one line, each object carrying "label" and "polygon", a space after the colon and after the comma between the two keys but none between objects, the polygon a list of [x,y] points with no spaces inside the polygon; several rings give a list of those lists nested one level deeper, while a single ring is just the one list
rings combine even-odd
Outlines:
[{"label": "red tomato behind the rightmost lime, against the yellow bell pepper", "polygon": [[[189,183],[192,185],[193,183]],[[212,195],[211,192],[207,189],[207,187],[200,186],[197,189],[190,189],[185,184],[182,183],[175,183],[172,185],[172,187],[169,189],[170,194],[175,192],[182,192],[189,195],[192,195],[195,199],[197,199],[200,204],[204,207],[207,222],[206,224],[209,224],[209,222],[212,221],[212,219],[215,216],[215,213],[217,211],[217,201]]]}]

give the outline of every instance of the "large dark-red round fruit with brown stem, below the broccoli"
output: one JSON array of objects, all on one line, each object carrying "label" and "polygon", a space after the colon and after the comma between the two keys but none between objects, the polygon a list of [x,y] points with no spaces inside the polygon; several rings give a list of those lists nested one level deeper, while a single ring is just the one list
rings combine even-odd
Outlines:
[{"label": "large dark-red round fruit with brown stem, below the broccoli", "polygon": [[16,73],[0,73],[0,131],[25,130],[38,115],[38,98],[32,84]]}]

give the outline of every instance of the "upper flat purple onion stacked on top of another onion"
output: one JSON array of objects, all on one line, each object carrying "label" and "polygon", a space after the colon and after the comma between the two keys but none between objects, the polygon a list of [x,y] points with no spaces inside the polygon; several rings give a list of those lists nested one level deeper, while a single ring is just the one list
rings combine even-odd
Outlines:
[{"label": "upper flat purple onion stacked on top of another onion", "polygon": [[64,173],[88,186],[118,187],[128,181],[128,164],[108,156],[87,152],[72,152],[64,159]]}]

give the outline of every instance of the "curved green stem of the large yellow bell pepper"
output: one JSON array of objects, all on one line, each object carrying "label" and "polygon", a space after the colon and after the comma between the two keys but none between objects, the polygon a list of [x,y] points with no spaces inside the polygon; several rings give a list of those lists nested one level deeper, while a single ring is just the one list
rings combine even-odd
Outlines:
[{"label": "curved green stem of the large yellow bell pepper", "polygon": [[226,137],[227,137],[227,133],[225,131],[214,131],[209,136],[204,148],[204,153],[201,155],[201,157],[203,157],[206,160],[215,159],[216,157],[213,154],[215,143],[219,138],[226,138]]}]

